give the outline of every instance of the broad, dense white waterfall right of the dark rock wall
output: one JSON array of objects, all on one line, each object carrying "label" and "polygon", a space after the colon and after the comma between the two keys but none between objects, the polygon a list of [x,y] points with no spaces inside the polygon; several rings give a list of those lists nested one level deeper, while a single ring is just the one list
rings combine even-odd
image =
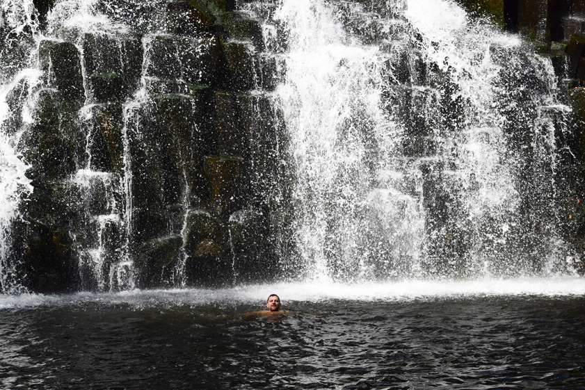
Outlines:
[{"label": "broad, dense white waterfall right of the dark rock wall", "polygon": [[284,0],[275,18],[305,276],[565,269],[554,133],[568,108],[549,60],[447,0]]}]

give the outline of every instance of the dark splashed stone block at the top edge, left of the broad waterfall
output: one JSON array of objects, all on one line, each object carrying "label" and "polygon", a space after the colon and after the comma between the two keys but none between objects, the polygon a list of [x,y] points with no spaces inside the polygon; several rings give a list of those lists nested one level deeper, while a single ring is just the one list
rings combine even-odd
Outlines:
[{"label": "dark splashed stone block at the top edge, left of the broad waterfall", "polygon": [[166,4],[166,31],[179,35],[195,35],[209,31],[216,17],[204,3],[169,1]]}]

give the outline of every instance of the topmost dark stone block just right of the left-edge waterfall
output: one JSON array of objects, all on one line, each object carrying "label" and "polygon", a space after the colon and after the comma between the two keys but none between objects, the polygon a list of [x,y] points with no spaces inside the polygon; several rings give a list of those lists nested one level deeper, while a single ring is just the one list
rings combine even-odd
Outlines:
[{"label": "topmost dark stone block just right of the left-edge waterfall", "polygon": [[74,44],[42,40],[39,46],[39,63],[49,85],[55,86],[64,99],[83,103],[85,92],[81,58]]}]

